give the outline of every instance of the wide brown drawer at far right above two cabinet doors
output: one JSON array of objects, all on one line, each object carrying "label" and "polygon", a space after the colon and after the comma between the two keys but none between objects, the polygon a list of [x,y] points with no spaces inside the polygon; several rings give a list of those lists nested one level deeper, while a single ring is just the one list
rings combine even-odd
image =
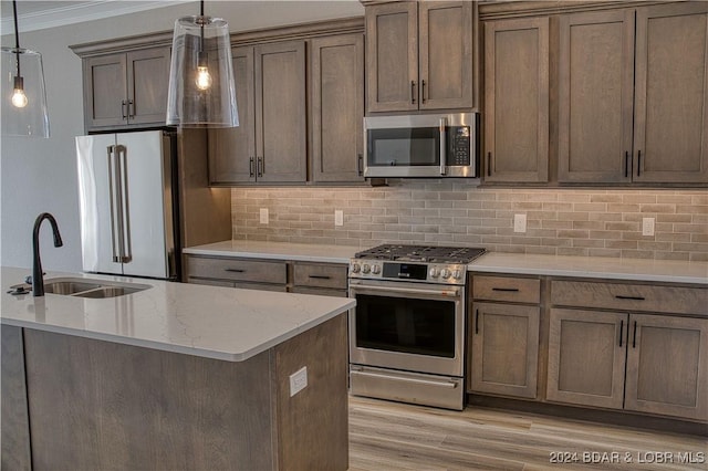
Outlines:
[{"label": "wide brown drawer at far right above two cabinet doors", "polygon": [[553,280],[551,303],[556,306],[708,315],[708,289]]}]

